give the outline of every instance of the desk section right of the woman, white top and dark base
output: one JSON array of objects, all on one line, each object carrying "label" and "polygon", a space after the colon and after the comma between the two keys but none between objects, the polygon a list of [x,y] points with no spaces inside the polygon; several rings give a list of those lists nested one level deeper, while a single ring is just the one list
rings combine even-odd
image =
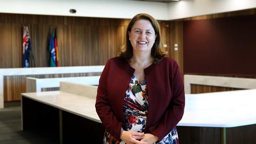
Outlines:
[{"label": "desk section right of the woman, white top and dark base", "polygon": [[256,89],[186,94],[184,144],[256,144]]}]

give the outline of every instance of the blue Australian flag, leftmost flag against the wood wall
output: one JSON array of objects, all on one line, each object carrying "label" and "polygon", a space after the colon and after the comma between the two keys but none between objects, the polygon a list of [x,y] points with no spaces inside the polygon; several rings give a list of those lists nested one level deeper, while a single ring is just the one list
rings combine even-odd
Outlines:
[{"label": "blue Australian flag, leftmost flag against the wood wall", "polygon": [[29,52],[32,50],[30,35],[28,32],[28,27],[24,26],[23,28],[23,42],[22,42],[22,67],[29,67]]}]

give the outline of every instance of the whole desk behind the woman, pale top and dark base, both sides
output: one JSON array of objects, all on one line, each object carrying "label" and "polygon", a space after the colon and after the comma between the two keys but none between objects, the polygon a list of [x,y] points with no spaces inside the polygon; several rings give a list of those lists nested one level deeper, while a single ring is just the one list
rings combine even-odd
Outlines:
[{"label": "whole desk behind the woman, pale top and dark base, both sides", "polygon": [[[86,96],[86,91],[81,95],[61,90],[22,93],[22,129],[47,129],[46,131],[59,137],[60,143],[100,144],[104,127],[95,111],[96,89],[94,93],[89,93],[89,97]],[[199,135],[193,128],[187,131],[187,127],[219,128],[221,138],[217,138],[216,142],[216,133],[213,133],[212,139],[215,142],[208,144],[229,143],[226,128],[248,125],[255,127],[255,102],[255,89],[186,94],[185,113],[177,125],[178,134],[186,131],[188,135]],[[253,129],[249,137],[254,137],[255,133]],[[180,142],[193,144],[193,140],[182,140],[187,137],[181,136],[179,135]],[[237,133],[235,136],[241,137],[241,134]],[[255,143],[255,138],[251,141]]]}]

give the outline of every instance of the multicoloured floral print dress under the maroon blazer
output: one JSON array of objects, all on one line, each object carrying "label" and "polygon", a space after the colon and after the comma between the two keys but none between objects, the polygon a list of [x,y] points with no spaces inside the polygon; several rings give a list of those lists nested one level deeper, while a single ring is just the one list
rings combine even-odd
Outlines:
[{"label": "multicoloured floral print dress under the maroon blazer", "polygon": [[[124,120],[126,131],[144,132],[147,113],[148,113],[148,95],[147,81],[144,78],[138,82],[133,75],[130,79],[124,98]],[[154,144],[178,144],[178,133],[176,127],[158,143]],[[113,138],[108,131],[104,133],[103,144],[125,144]]]}]

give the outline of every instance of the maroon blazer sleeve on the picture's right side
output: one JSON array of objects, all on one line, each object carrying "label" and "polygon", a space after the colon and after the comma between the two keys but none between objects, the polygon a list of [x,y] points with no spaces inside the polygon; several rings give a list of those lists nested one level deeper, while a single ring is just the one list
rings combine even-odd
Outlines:
[{"label": "maroon blazer sleeve on the picture's right side", "polygon": [[170,83],[172,83],[173,85],[173,96],[171,98],[169,106],[163,113],[163,116],[161,117],[158,124],[155,124],[154,126],[148,128],[150,133],[156,135],[159,138],[159,141],[161,141],[168,133],[170,133],[170,131],[182,119],[182,116],[184,114],[184,82],[176,61],[173,65],[173,72],[170,72],[170,75],[173,75],[173,77],[170,78]]}]

